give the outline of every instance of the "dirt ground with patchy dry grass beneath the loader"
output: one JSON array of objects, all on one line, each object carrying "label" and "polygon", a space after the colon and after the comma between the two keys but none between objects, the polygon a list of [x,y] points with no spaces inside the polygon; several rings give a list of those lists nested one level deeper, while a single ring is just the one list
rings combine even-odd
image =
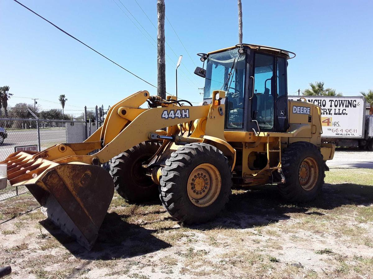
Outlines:
[{"label": "dirt ground with patchy dry grass beneath the loader", "polygon": [[9,278],[373,278],[372,177],[331,169],[302,205],[276,186],[234,190],[216,220],[191,227],[157,201],[115,195],[90,252],[24,194],[0,202],[0,266],[12,266]]}]

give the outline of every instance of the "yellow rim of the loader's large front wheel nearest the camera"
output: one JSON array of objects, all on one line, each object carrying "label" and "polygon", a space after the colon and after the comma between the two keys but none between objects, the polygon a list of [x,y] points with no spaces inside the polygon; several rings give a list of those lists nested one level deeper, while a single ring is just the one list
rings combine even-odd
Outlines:
[{"label": "yellow rim of the loader's large front wheel nearest the camera", "polygon": [[198,207],[211,205],[222,189],[219,170],[209,163],[200,164],[192,170],[188,178],[188,197]]}]

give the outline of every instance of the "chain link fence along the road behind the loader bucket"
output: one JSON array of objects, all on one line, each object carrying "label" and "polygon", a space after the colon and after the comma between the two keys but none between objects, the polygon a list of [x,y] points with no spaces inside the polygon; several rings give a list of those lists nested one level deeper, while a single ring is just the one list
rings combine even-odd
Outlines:
[{"label": "chain link fence along the road behind the loader bucket", "polygon": [[[96,129],[97,122],[82,120],[0,118],[0,161],[24,148],[42,151],[58,143],[82,142]],[[0,190],[0,201],[27,192],[25,186]]]}]

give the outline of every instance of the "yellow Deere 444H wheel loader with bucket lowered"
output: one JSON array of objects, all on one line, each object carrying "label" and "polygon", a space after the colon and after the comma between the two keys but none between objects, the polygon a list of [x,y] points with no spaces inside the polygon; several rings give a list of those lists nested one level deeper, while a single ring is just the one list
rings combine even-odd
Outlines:
[{"label": "yellow Deere 444H wheel loader with bucket lowered", "polygon": [[[335,147],[321,143],[320,107],[287,99],[295,54],[240,44],[198,55],[203,105],[136,92],[82,143],[11,154],[1,162],[10,185],[25,185],[44,214],[87,249],[114,188],[130,202],[159,194],[186,224],[214,218],[233,184],[275,183],[290,201],[316,198]],[[106,162],[110,173],[100,167]]]}]

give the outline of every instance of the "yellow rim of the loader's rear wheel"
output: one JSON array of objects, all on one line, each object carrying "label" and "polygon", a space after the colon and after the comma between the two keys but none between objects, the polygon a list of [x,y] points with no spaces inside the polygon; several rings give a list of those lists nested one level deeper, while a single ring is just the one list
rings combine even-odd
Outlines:
[{"label": "yellow rim of the loader's rear wheel", "polygon": [[302,161],[298,177],[299,183],[304,190],[310,191],[316,186],[319,177],[319,168],[314,158],[307,157]]}]

